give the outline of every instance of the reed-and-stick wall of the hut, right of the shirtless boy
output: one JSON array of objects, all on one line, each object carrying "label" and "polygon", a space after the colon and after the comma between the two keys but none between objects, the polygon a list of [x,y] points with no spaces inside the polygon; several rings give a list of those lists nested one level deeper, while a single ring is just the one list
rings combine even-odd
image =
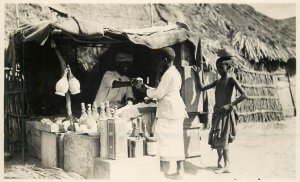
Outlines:
[{"label": "reed-and-stick wall of the hut, right of the shirtless boy", "polygon": [[239,70],[236,78],[249,97],[237,105],[239,122],[267,122],[284,119],[272,74]]}]

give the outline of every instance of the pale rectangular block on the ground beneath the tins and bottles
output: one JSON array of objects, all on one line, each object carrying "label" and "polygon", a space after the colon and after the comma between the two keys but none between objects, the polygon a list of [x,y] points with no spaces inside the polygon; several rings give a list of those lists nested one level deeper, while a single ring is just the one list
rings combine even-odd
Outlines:
[{"label": "pale rectangular block on the ground beneath the tins and bottles", "polygon": [[110,180],[155,180],[160,177],[157,156],[143,156],[120,160],[94,159],[94,178]]}]

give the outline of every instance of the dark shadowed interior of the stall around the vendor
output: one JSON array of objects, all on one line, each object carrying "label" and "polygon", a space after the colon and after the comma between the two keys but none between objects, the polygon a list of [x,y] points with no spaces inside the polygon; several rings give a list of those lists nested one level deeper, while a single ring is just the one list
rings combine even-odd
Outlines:
[{"label": "dark shadowed interior of the stall around the vendor", "polygon": [[[131,54],[134,60],[129,71],[130,78],[141,77],[144,83],[157,86],[162,75],[159,51],[131,42],[114,44],[65,44],[56,41],[65,62],[80,82],[81,93],[71,95],[72,112],[80,116],[80,103],[92,103],[100,86],[103,74],[113,70],[115,54],[122,51]],[[178,49],[175,45],[175,49]],[[33,51],[34,50],[34,51]],[[34,115],[65,115],[65,97],[55,94],[55,84],[61,78],[59,59],[51,48],[50,41],[44,46],[24,44],[24,73],[29,104]],[[178,58],[177,58],[178,59]],[[148,77],[148,78],[147,78]],[[133,89],[136,101],[145,95]]]}]

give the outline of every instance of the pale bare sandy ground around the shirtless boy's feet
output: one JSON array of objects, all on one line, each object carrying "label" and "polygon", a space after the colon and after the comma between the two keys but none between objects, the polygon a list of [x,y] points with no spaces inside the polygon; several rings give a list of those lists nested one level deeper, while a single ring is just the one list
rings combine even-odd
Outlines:
[{"label": "pale bare sandy ground around the shirtless boy's feet", "polygon": [[[185,162],[184,181],[296,178],[296,118],[288,118],[281,122],[238,124],[237,138],[230,146],[230,174],[214,173],[217,154],[207,145],[208,132],[204,130],[201,133],[201,159]],[[20,158],[6,162],[5,170],[9,170],[10,166],[16,163],[20,164]],[[31,158],[26,163],[40,165],[39,160]],[[161,179],[166,178],[162,175]]]}]

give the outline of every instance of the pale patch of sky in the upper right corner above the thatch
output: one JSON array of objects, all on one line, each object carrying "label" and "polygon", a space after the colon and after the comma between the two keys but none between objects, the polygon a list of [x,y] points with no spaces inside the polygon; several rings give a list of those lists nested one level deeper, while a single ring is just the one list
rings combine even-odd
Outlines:
[{"label": "pale patch of sky in the upper right corner above the thatch", "polygon": [[295,4],[249,4],[256,11],[274,19],[285,19],[296,16]]}]

